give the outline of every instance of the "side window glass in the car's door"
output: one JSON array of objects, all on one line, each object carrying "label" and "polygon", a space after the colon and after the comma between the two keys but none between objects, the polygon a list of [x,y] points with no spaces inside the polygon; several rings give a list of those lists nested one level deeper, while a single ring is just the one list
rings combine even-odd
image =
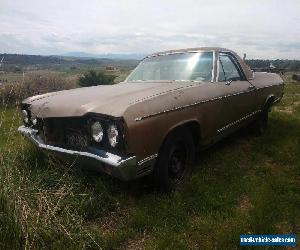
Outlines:
[{"label": "side window glass in the car's door", "polygon": [[233,59],[226,54],[219,56],[219,82],[241,80],[241,75],[233,62]]}]

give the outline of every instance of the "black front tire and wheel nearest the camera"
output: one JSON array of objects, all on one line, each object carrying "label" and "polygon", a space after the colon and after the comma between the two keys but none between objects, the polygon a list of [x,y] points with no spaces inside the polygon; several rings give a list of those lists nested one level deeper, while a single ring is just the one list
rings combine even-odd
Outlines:
[{"label": "black front tire and wheel nearest the camera", "polygon": [[156,162],[154,178],[160,191],[170,192],[190,175],[195,159],[195,143],[187,129],[171,132],[163,143]]}]

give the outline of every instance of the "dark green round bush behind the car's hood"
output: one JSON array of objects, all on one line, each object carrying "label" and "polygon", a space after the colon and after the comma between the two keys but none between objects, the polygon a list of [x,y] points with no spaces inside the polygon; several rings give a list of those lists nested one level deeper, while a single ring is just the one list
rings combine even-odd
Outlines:
[{"label": "dark green round bush behind the car's hood", "polygon": [[82,87],[89,87],[89,86],[97,86],[97,85],[108,85],[113,84],[114,79],[116,76],[114,75],[107,75],[104,72],[96,72],[94,70],[90,70],[83,74],[79,78],[79,85]]}]

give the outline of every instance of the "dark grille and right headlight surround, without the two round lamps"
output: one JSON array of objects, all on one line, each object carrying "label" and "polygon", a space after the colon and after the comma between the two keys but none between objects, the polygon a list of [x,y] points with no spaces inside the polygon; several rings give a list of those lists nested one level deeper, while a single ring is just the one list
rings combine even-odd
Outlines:
[{"label": "dark grille and right headlight surround, without the two round lamps", "polygon": [[[100,143],[92,139],[90,127],[95,121],[100,121],[105,131]],[[119,130],[119,143],[115,148],[109,145],[107,129],[109,124],[115,124]],[[90,152],[91,148],[98,148],[114,154],[123,154],[126,149],[125,130],[120,118],[98,114],[81,117],[37,118],[39,136],[47,145],[57,146],[76,151]]]}]

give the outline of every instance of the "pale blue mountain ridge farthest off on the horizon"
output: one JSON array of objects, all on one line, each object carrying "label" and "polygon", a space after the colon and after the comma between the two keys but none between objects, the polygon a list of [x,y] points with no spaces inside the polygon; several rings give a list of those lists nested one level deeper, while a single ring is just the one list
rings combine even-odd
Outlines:
[{"label": "pale blue mountain ridge farthest off on the horizon", "polygon": [[145,57],[144,54],[134,53],[107,53],[107,54],[91,54],[86,52],[68,52],[62,54],[63,57],[81,57],[81,58],[107,58],[117,60],[141,60]]}]

